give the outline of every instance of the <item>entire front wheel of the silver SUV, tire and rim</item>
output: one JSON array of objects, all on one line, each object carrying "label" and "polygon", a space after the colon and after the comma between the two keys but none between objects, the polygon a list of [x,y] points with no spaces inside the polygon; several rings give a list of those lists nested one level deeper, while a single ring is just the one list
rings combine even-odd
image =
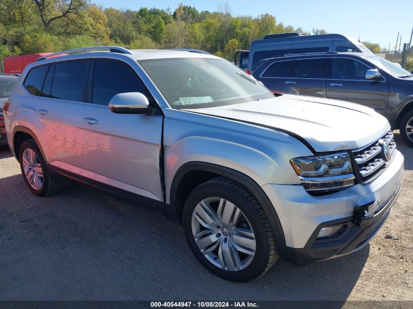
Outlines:
[{"label": "entire front wheel of the silver SUV, tire and rim", "polygon": [[247,188],[228,178],[197,186],[185,202],[182,224],[198,261],[225,280],[256,279],[278,259],[261,205]]}]

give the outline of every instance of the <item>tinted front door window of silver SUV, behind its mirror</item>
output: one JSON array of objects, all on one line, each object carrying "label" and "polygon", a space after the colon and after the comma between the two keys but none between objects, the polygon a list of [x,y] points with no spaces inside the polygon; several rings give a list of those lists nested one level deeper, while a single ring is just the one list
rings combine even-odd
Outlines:
[{"label": "tinted front door window of silver SUV, behind its mirror", "polygon": [[145,85],[128,64],[96,60],[92,103],[108,105],[115,95],[124,92],[140,92],[150,100]]}]

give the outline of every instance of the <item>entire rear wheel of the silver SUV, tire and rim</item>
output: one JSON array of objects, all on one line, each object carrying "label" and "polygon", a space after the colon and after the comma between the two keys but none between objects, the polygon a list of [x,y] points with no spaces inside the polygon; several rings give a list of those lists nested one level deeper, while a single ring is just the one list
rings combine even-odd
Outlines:
[{"label": "entire rear wheel of the silver SUV, tire and rim", "polygon": [[24,182],[34,194],[47,196],[62,189],[62,183],[50,174],[42,152],[34,140],[23,142],[20,147],[19,162]]}]

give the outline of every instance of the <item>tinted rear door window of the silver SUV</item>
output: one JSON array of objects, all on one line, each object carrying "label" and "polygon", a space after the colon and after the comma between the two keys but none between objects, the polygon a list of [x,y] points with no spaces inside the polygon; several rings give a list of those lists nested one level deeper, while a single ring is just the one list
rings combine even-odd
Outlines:
[{"label": "tinted rear door window of the silver SUV", "polygon": [[88,61],[56,63],[50,97],[81,102],[85,92]]}]

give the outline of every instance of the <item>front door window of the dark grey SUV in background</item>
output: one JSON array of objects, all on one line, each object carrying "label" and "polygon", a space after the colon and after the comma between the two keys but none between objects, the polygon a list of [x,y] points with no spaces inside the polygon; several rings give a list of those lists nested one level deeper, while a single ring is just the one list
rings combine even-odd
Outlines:
[{"label": "front door window of the dark grey SUV in background", "polygon": [[365,80],[370,68],[354,59],[331,58],[331,78],[333,80]]}]

